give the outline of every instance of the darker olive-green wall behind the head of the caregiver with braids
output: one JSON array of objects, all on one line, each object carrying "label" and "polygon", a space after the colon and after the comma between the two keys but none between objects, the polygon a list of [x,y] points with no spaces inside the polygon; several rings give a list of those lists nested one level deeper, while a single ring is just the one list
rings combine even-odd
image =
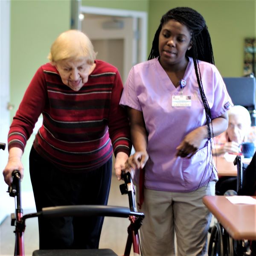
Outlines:
[{"label": "darker olive-green wall behind the head of the caregiver with braids", "polygon": [[221,75],[243,76],[244,38],[256,35],[255,3],[255,0],[149,0],[148,49],[162,15],[169,9],[188,6],[206,20],[215,65]]}]

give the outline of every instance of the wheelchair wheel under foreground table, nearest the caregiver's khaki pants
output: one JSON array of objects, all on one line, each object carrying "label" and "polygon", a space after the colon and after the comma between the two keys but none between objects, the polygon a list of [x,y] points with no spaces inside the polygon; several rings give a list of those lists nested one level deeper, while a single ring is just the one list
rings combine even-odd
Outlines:
[{"label": "wheelchair wheel under foreground table, nearest the caregiver's khaki pants", "polygon": [[224,247],[224,235],[221,230],[219,223],[215,224],[212,227],[211,236],[209,239],[208,255],[209,256],[225,256],[225,247]]}]

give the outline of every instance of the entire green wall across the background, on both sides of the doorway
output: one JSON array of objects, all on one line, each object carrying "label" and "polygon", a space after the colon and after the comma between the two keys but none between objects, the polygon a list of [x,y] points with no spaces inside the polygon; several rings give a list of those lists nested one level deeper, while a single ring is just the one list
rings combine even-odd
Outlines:
[{"label": "entire green wall across the background, on both sides of the doorway", "polygon": [[[47,62],[54,39],[70,29],[70,6],[70,0],[11,0],[11,117],[35,71]],[[82,6],[148,12],[148,52],[162,15],[177,6],[192,7],[207,21],[222,76],[243,75],[244,38],[256,35],[256,0],[82,0]],[[33,140],[34,135],[23,155],[25,191],[31,189],[28,157]]]}]

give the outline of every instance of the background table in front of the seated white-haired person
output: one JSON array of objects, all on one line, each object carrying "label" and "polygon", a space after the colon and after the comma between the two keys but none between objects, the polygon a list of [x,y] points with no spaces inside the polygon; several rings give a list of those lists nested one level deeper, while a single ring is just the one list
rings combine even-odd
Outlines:
[{"label": "background table in front of the seated white-haired person", "polygon": [[[233,160],[235,160],[235,158],[236,155],[229,155],[229,159],[227,160],[224,156],[213,157],[216,164],[218,176],[237,176],[237,167],[233,163]],[[242,159],[242,163],[249,164],[250,161],[251,158]]]}]

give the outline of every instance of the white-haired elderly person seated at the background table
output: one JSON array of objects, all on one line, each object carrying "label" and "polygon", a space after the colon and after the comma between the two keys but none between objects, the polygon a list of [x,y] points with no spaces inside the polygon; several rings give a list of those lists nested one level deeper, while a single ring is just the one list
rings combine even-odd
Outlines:
[{"label": "white-haired elderly person seated at the background table", "polygon": [[[241,143],[254,141],[253,129],[251,128],[250,113],[246,108],[235,105],[227,111],[229,123],[227,130],[215,137],[215,155],[241,154]],[[234,157],[235,158],[235,157]],[[236,177],[219,177],[215,186],[216,195],[224,195],[229,190],[236,191]]]}]

